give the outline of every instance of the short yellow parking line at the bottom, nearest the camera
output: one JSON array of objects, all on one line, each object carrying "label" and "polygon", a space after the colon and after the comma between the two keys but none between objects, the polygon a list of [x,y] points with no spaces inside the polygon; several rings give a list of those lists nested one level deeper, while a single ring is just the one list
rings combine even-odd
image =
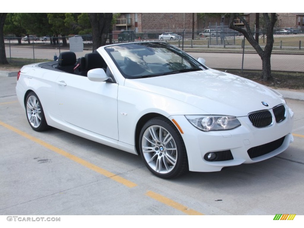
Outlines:
[{"label": "short yellow parking line at the bottom, nearest the camera", "polygon": [[157,194],[155,192],[148,191],[146,193],[146,195],[155,199],[155,200],[157,200],[157,201],[159,201],[159,202],[161,202],[161,203],[163,203],[163,204],[166,204],[166,205],[171,206],[175,209],[178,209],[178,210],[180,210],[181,212],[184,212],[187,215],[204,215],[204,214],[202,214],[198,211],[192,210],[192,209],[190,209],[190,208],[188,208],[188,207],[186,207],[182,204],[179,204],[178,202],[173,201],[172,199],[164,197],[163,195]]}]

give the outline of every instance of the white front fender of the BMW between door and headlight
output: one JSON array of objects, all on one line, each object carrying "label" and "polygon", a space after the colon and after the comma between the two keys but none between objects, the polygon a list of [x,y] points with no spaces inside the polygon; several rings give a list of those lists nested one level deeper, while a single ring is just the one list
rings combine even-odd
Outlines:
[{"label": "white front fender of the BMW between door and headlight", "polygon": [[156,113],[167,118],[173,115],[208,114],[197,107],[173,98],[136,88],[119,86],[119,141],[135,145],[136,125],[142,116],[149,113]]}]

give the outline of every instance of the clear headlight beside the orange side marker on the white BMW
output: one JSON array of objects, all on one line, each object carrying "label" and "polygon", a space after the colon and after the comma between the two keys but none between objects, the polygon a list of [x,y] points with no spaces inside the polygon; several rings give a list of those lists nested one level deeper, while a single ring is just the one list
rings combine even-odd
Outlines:
[{"label": "clear headlight beside the orange side marker on the white BMW", "polygon": [[235,116],[199,115],[185,117],[193,126],[202,131],[230,130],[241,126],[240,121]]}]

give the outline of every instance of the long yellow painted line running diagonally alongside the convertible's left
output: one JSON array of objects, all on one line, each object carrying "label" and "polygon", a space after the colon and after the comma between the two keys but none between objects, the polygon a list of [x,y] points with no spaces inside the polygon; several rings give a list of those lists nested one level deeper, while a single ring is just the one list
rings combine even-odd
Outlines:
[{"label": "long yellow painted line running diagonally alongside the convertible's left", "polygon": [[0,125],[4,126],[5,128],[7,128],[7,129],[9,129],[13,132],[16,132],[17,134],[19,134],[23,137],[26,137],[29,140],[32,140],[35,143],[40,144],[43,147],[46,147],[49,150],[52,150],[52,151],[54,151],[58,154],[61,154],[64,157],[67,157],[68,159],[71,159],[72,161],[75,161],[78,164],[81,164],[81,165],[83,165],[83,166],[85,166],[85,167],[87,167],[87,168],[89,168],[89,169],[91,169],[95,172],[98,172],[99,174],[102,174],[102,175],[104,175],[108,178],[111,178],[112,180],[117,181],[117,182],[119,182],[123,185],[126,185],[129,188],[133,188],[133,187],[137,186],[135,183],[133,183],[133,182],[131,182],[131,181],[125,179],[125,178],[119,177],[118,175],[116,175],[114,173],[111,173],[111,172],[109,172],[105,169],[102,169],[102,168],[100,168],[100,167],[98,167],[98,166],[96,166],[96,165],[94,165],[94,164],[92,164],[88,161],[85,161],[85,160],[83,160],[83,159],[81,159],[81,158],[79,158],[75,155],[69,154],[68,152],[66,152],[64,150],[62,150],[60,148],[57,148],[57,147],[54,147],[53,145],[51,145],[49,143],[46,143],[46,142],[44,142],[44,141],[42,141],[38,138],[35,138],[35,137],[33,137],[33,136],[31,136],[31,135],[29,135],[29,134],[27,134],[27,133],[25,133],[21,130],[18,130],[17,128],[15,128],[13,126],[10,126],[10,125],[8,125],[6,123],[3,123],[1,121],[0,121]]}]

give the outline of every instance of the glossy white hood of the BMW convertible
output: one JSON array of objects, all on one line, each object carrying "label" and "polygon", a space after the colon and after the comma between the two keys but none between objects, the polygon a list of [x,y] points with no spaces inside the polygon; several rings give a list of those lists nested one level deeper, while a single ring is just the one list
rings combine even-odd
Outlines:
[{"label": "glossy white hood of the BMW convertible", "polygon": [[213,69],[126,79],[125,86],[174,98],[212,115],[247,116],[250,112],[271,109],[283,102],[266,86]]}]

